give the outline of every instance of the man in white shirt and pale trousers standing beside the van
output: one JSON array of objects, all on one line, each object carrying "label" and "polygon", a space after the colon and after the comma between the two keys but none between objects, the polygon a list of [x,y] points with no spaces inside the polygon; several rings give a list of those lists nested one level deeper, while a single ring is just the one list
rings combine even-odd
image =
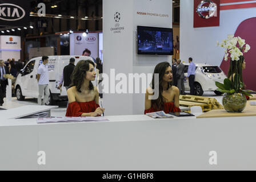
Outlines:
[{"label": "man in white shirt and pale trousers standing beside the van", "polygon": [[[48,101],[50,96],[49,73],[48,73],[48,68],[46,66],[46,64],[48,63],[48,59],[49,57],[42,56],[43,63],[39,66],[37,71],[37,81],[38,81],[38,91],[39,91],[37,103],[39,105],[45,105],[45,103]],[[45,96],[43,97],[43,101],[42,101],[43,94],[45,94]]]}]

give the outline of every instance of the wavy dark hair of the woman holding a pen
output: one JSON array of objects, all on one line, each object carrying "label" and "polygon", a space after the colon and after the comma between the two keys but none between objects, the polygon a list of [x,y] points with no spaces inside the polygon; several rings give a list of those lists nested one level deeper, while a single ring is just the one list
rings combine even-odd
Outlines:
[{"label": "wavy dark hair of the woman holding a pen", "polygon": [[[95,67],[95,64],[91,60],[80,60],[74,68],[74,71],[71,75],[71,84],[69,87],[76,86],[77,91],[81,92],[81,86],[83,84],[83,80],[86,77],[86,71],[89,71],[90,64]],[[89,82],[89,90],[93,90],[93,83]]]}]

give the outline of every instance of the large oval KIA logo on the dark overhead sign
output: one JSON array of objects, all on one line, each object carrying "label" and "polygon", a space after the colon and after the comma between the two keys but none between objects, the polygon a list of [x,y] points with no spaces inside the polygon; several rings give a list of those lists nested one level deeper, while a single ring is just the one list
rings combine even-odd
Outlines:
[{"label": "large oval KIA logo on the dark overhead sign", "polygon": [[7,21],[16,21],[25,16],[25,10],[22,7],[14,4],[0,4],[0,19]]}]

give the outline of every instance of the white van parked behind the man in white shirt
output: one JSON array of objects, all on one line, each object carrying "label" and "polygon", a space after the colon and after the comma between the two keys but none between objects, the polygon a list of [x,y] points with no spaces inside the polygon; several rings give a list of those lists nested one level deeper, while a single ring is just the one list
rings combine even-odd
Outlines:
[{"label": "white van parked behind the man in white shirt", "polygon": [[[46,105],[52,105],[57,100],[67,100],[67,92],[64,86],[62,86],[62,92],[57,89],[59,80],[62,76],[63,68],[69,64],[71,57],[75,58],[75,64],[79,60],[91,60],[88,56],[48,56],[49,62],[47,64],[49,71],[49,88],[50,96]],[[25,100],[25,97],[38,97],[38,82],[37,82],[37,70],[39,65],[42,64],[42,56],[34,57],[22,69],[21,73],[17,76],[15,82],[15,93],[19,101]]]}]

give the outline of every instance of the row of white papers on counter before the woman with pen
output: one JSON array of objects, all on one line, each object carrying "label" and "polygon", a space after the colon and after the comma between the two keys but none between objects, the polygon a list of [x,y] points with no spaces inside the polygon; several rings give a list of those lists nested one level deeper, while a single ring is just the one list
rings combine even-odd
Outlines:
[{"label": "row of white papers on counter before the woman with pen", "polygon": [[50,117],[38,118],[37,123],[47,122],[82,122],[82,121],[109,121],[105,117]]}]

